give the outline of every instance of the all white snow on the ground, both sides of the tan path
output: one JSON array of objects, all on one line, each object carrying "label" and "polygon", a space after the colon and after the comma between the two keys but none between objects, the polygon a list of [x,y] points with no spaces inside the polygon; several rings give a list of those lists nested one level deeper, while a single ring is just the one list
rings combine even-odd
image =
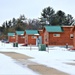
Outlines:
[{"label": "all white snow on the ground, both sides of the tan path", "polygon": [[[75,65],[67,64],[67,63],[75,63],[75,51],[68,51],[64,47],[49,47],[49,50],[47,48],[47,51],[39,51],[38,47],[35,46],[31,46],[30,48],[30,46],[23,47],[19,45],[18,48],[15,48],[13,47],[12,43],[10,44],[0,43],[0,51],[4,52],[12,51],[25,54],[34,57],[34,59],[29,59],[31,61],[46,65],[48,67],[53,67],[60,71],[69,73],[70,75],[75,75]],[[0,67],[1,67],[0,74],[30,73],[32,75],[37,75],[37,73],[31,71],[27,67],[24,68],[17,65],[13,59],[2,54],[0,54]]]}]

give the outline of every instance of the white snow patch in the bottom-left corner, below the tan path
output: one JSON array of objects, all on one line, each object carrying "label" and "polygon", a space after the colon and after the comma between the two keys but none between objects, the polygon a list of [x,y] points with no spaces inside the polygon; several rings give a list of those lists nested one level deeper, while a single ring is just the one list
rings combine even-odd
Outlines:
[{"label": "white snow patch in the bottom-left corner, below the tan path", "polygon": [[28,69],[15,63],[13,59],[0,54],[0,75],[38,75]]}]

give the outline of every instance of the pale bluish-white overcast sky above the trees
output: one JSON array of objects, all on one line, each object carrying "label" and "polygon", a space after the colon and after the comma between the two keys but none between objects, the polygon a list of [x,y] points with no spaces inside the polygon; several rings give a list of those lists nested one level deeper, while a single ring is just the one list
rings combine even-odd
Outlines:
[{"label": "pale bluish-white overcast sky above the trees", "polygon": [[48,6],[75,17],[75,0],[0,0],[0,24],[21,14],[26,18],[39,18]]}]

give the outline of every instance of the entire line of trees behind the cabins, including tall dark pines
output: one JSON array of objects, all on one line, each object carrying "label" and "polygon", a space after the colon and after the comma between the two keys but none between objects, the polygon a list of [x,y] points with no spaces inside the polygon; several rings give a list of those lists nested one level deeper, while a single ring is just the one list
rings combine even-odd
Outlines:
[{"label": "entire line of trees behind the cabins, including tall dark pines", "polygon": [[41,17],[38,19],[27,19],[25,15],[20,15],[19,18],[13,18],[9,21],[5,21],[0,27],[1,37],[6,36],[8,32],[15,32],[16,30],[25,29],[41,29],[45,25],[71,25],[74,22],[74,18],[70,14],[55,10],[52,7],[46,7],[41,12]]}]

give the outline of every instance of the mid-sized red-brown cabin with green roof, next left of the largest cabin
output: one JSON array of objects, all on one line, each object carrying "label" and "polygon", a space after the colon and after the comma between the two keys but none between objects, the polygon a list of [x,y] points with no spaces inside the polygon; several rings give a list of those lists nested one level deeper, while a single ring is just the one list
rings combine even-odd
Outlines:
[{"label": "mid-sized red-brown cabin with green roof, next left of the largest cabin", "polygon": [[25,44],[36,45],[38,36],[38,30],[25,30]]}]

